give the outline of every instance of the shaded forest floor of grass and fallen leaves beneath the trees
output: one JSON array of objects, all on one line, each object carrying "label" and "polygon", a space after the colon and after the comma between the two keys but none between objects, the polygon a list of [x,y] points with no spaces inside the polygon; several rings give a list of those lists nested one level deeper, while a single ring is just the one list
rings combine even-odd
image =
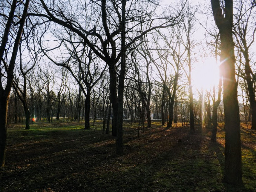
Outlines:
[{"label": "shaded forest floor of grass and fallen leaves beneath the trees", "polygon": [[0,168],[0,191],[256,191],[256,131],[241,126],[244,186],[222,182],[225,134],[211,129],[154,122],[140,130],[124,125],[124,155],[102,124],[84,130],[82,123],[40,122],[30,130],[8,128],[6,166]]}]

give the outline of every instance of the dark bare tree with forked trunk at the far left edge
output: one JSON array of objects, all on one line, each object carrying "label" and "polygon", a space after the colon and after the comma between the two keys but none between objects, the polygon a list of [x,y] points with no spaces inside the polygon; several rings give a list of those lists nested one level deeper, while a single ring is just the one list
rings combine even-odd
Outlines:
[{"label": "dark bare tree with forked trunk at the far left edge", "polygon": [[[14,40],[14,44],[12,47],[12,53],[10,61],[7,59],[7,55],[4,56],[4,54],[7,54],[6,50],[10,50],[11,47],[6,47],[8,45],[8,36],[11,29],[11,25],[13,23],[13,18],[15,13],[15,9],[17,8],[17,1],[13,0],[12,3],[10,3],[10,12],[9,15],[5,15],[7,18],[7,21],[3,21],[5,23],[4,27],[4,33],[1,40],[1,46],[0,46],[0,66],[5,70],[5,72],[1,71],[0,76],[0,165],[4,166],[5,164],[5,151],[6,151],[6,137],[7,137],[7,110],[8,110],[8,100],[9,100],[9,94],[11,92],[12,88],[12,81],[13,81],[13,70],[15,66],[15,61],[19,49],[19,43],[21,40],[22,32],[23,32],[23,26],[26,20],[26,14],[28,12],[29,7],[29,0],[25,1],[22,16],[20,17],[19,22],[19,28],[18,32],[16,34],[16,38]],[[19,6],[23,6],[23,4],[19,4]],[[19,13],[17,13],[20,15]],[[7,63],[9,61],[9,64]]]}]

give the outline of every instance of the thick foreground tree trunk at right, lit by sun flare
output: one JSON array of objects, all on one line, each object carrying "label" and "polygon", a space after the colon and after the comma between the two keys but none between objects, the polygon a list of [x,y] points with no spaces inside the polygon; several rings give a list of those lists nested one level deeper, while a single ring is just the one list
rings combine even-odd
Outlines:
[{"label": "thick foreground tree trunk at right, lit by sun flare", "polygon": [[219,0],[211,0],[215,23],[221,37],[221,72],[223,77],[223,104],[225,117],[225,169],[224,182],[241,185],[242,154],[233,29],[233,1],[225,1],[225,17]]}]

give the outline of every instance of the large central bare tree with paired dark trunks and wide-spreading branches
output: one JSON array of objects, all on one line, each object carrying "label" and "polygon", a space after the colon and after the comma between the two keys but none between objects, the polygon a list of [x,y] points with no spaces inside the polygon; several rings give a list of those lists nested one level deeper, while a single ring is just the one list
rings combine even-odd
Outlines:
[{"label": "large central bare tree with paired dark trunks and wide-spreading branches", "polygon": [[[157,15],[158,11],[155,10],[160,6],[158,3],[151,1],[101,0],[90,3],[76,1],[79,4],[77,7],[80,8],[80,5],[82,5],[84,8],[82,13],[81,10],[73,11],[72,7],[75,3],[64,4],[64,2],[60,1],[58,4],[63,3],[63,6],[55,6],[54,3],[46,4],[43,0],[40,0],[40,2],[41,7],[35,9],[41,10],[41,12],[30,13],[30,16],[41,17],[43,20],[54,22],[58,26],[72,31],[79,37],[80,42],[88,46],[96,56],[108,65],[110,99],[113,108],[113,135],[117,136],[117,133],[119,133],[117,137],[117,153],[122,153],[126,50],[146,33],[158,28],[167,28],[175,25],[180,14],[177,13],[174,17],[167,17],[164,14]],[[144,7],[143,9],[142,6]],[[147,6],[146,9],[145,6]],[[90,14],[98,15],[90,17]],[[116,15],[116,17],[113,17],[113,15]],[[66,41],[65,38],[61,40],[61,42],[63,41]],[[44,49],[46,50],[46,47]],[[117,72],[118,67],[119,73]],[[116,91],[117,83],[118,94]]]}]

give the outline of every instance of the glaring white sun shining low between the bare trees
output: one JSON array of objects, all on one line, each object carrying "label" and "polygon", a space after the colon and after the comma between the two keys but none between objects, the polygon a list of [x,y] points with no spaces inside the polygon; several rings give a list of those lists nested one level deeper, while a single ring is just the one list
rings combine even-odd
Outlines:
[{"label": "glaring white sun shining low between the bare trees", "polygon": [[192,86],[196,89],[210,91],[217,86],[220,78],[219,64],[214,58],[209,58],[201,63],[194,64],[191,72]]}]

